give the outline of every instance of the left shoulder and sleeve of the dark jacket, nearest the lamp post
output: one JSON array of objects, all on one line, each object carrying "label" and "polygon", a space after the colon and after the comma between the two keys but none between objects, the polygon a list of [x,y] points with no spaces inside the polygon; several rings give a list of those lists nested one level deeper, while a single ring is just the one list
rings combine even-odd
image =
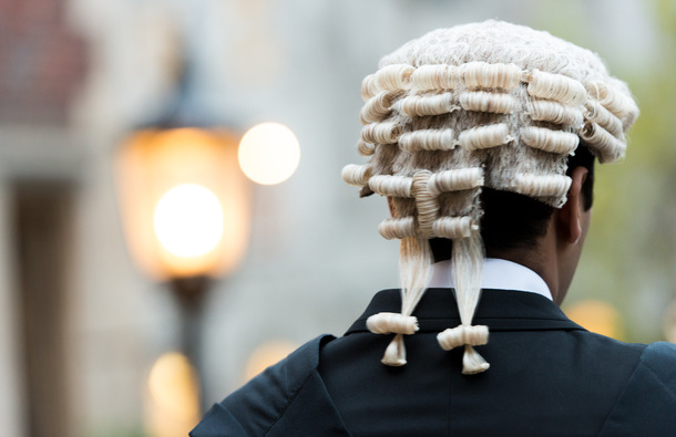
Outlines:
[{"label": "left shoulder and sleeve of the dark jacket, nearest the lamp post", "polygon": [[[192,437],[265,436],[284,422],[303,392],[317,395],[319,348],[331,341],[321,335],[268,367],[219,404],[215,404],[191,431]],[[319,387],[320,388],[320,387]]]}]

